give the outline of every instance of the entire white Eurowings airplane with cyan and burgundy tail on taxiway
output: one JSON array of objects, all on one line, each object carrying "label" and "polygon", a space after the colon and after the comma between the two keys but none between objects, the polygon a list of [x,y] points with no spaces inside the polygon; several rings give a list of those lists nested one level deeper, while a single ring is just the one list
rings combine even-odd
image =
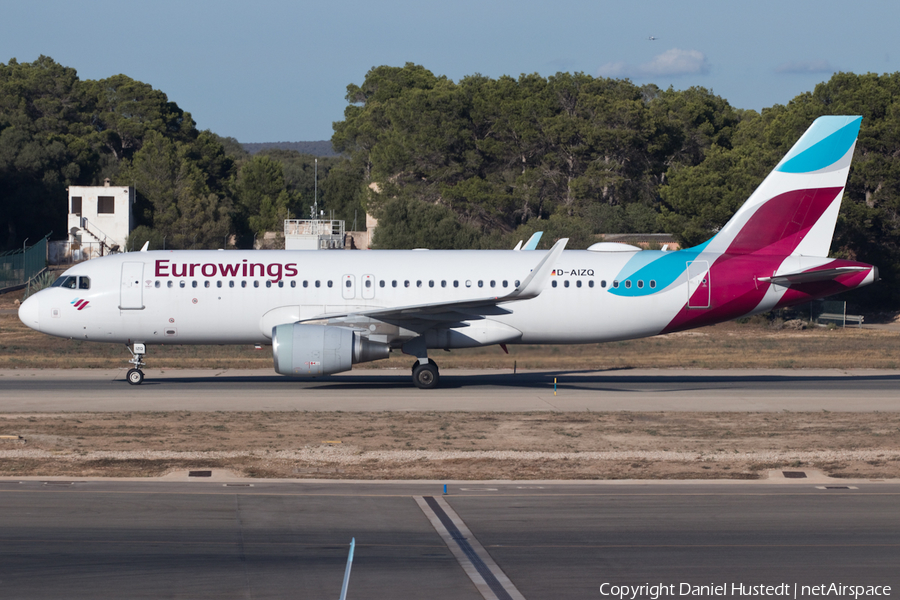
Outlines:
[{"label": "entire white Eurowings airplane with cyan and burgundy tail on taxiway", "polygon": [[625,340],[800,304],[878,279],[872,265],[827,258],[860,122],[817,119],[693,248],[564,251],[560,239],[529,252],[145,249],[72,267],[19,318],[129,345],[132,384],[149,345],[270,343],[275,371],[302,378],[399,350],[416,359],[413,383],[431,388],[430,349]]}]

